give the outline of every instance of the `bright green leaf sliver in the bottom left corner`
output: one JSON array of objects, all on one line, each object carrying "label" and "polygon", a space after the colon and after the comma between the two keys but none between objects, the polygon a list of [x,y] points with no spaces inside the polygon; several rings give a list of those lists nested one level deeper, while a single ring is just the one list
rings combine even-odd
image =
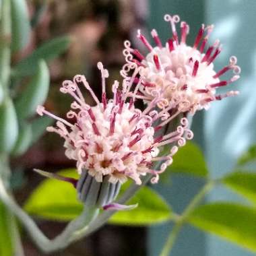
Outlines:
[{"label": "bright green leaf sliver in the bottom left corner", "polygon": [[0,255],[13,256],[13,245],[11,241],[11,231],[9,227],[9,215],[0,202]]}]

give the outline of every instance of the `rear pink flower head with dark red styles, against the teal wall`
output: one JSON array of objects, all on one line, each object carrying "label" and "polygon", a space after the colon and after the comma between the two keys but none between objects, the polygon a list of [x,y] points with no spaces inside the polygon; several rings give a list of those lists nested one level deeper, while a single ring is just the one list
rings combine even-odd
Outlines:
[{"label": "rear pink flower head with dark red styles, against the teal wall", "polygon": [[[157,91],[162,95],[158,107],[172,104],[172,107],[176,107],[181,113],[194,114],[196,110],[209,108],[210,102],[214,100],[238,94],[232,90],[225,94],[216,94],[216,88],[236,81],[241,69],[236,65],[236,57],[232,56],[228,65],[219,71],[214,70],[214,60],[222,49],[219,40],[207,45],[214,26],[202,24],[193,46],[189,46],[186,43],[189,25],[181,22],[179,36],[176,28],[180,22],[179,16],[166,14],[164,20],[170,23],[172,30],[172,37],[165,44],[162,44],[156,30],[151,32],[156,44],[154,47],[138,30],[137,38],[149,51],[146,56],[137,49],[132,49],[131,43],[125,41],[123,54],[127,63],[123,66],[121,74],[128,78],[134,63],[140,67],[141,79],[135,80],[139,93],[136,92],[138,95],[135,97],[143,98],[144,102],[148,103],[154,99]],[[227,80],[221,79],[228,70],[232,70],[234,75]]]}]

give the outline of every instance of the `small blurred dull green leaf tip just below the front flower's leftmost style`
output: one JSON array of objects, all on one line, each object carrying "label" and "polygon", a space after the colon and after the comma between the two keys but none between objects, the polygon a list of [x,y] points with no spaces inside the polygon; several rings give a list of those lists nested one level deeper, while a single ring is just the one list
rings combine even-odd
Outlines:
[{"label": "small blurred dull green leaf tip just below the front flower's leftmost style", "polygon": [[34,119],[31,123],[32,128],[32,143],[36,142],[42,134],[46,131],[46,127],[49,127],[53,123],[53,119],[43,116]]}]

